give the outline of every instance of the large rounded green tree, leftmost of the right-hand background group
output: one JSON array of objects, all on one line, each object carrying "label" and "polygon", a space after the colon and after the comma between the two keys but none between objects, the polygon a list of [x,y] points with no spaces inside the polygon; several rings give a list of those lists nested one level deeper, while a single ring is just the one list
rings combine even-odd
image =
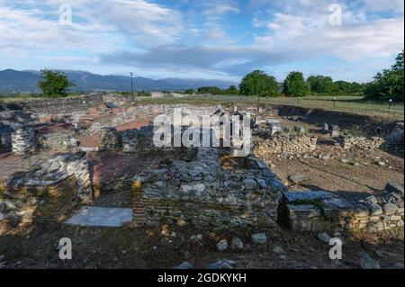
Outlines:
[{"label": "large rounded green tree, leftmost of the right-hand background group", "polygon": [[279,94],[278,83],[274,76],[268,76],[265,72],[256,70],[243,77],[239,84],[239,93],[275,96]]}]

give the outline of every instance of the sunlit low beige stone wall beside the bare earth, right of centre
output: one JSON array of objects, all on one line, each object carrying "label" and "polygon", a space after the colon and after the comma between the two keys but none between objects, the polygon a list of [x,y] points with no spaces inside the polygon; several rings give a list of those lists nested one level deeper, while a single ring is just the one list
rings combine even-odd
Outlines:
[{"label": "sunlit low beige stone wall beside the bare earth, right of centre", "polygon": [[257,157],[267,159],[268,155],[295,156],[311,153],[317,148],[317,138],[299,133],[276,133],[271,139],[256,140],[253,149]]}]

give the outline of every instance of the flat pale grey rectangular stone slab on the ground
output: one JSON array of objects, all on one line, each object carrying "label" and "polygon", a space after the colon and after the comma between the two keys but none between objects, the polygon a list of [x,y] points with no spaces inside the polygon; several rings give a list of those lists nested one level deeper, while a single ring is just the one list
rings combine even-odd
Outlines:
[{"label": "flat pale grey rectangular stone slab on the ground", "polygon": [[131,209],[84,206],[65,223],[85,227],[118,228],[130,221]]}]

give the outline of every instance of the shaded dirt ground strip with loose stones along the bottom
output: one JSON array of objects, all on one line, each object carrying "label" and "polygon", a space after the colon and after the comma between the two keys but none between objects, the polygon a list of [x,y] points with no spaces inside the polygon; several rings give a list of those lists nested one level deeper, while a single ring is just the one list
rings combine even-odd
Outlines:
[{"label": "shaded dirt ground strip with loose stones along the bottom", "polygon": [[[267,243],[253,244],[250,235],[266,232]],[[202,234],[200,241],[190,237]],[[242,250],[219,251],[221,239],[242,239]],[[184,261],[194,268],[207,268],[218,259],[236,262],[236,268],[360,268],[366,253],[382,268],[403,264],[403,229],[383,234],[343,236],[343,259],[329,259],[329,245],[314,234],[291,233],[288,230],[228,230],[166,227],[90,229],[58,224],[36,224],[13,228],[0,225],[1,268],[173,268]],[[70,238],[72,260],[58,258],[58,241]],[[277,255],[274,247],[282,247]]]}]

